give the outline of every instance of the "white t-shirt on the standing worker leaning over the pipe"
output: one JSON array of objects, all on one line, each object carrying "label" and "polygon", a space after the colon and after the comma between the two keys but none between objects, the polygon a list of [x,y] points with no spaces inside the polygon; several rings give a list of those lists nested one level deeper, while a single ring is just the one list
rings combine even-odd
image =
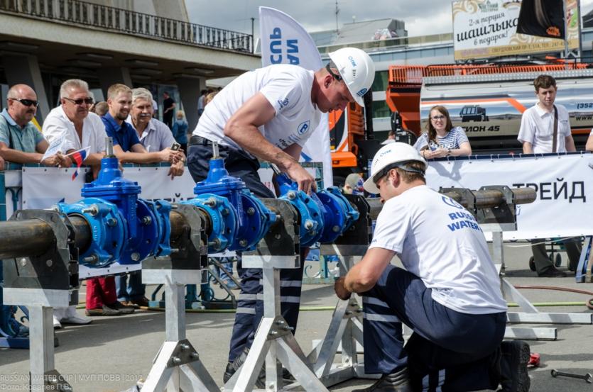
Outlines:
[{"label": "white t-shirt on the standing worker leaning over the pipe", "polygon": [[294,143],[305,145],[321,118],[321,112],[311,102],[314,74],[287,64],[269,65],[242,74],[205,106],[193,135],[241,150],[236,142],[224,136],[224,125],[244,102],[261,92],[276,111],[276,117],[259,127],[263,137],[281,150]]}]

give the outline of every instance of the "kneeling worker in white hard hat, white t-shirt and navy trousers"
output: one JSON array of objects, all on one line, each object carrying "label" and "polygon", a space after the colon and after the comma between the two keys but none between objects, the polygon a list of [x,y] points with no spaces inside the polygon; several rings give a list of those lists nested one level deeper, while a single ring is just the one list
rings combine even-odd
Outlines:
[{"label": "kneeling worker in white hard hat, white t-shirt and navy trousers", "polygon": [[[383,374],[362,391],[529,390],[525,342],[502,342],[506,303],[472,215],[425,183],[410,145],[377,152],[364,189],[383,209],[361,262],[334,286],[364,303],[364,366]],[[406,269],[391,265],[397,254]],[[402,326],[414,331],[403,347]]]}]

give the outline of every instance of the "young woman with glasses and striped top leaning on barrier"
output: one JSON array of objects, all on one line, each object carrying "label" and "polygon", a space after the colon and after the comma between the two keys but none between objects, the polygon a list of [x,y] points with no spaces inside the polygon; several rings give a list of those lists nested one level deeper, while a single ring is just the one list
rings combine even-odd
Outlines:
[{"label": "young woman with glasses and striped top leaning on barrier", "polygon": [[472,155],[472,146],[461,127],[453,128],[445,106],[430,108],[427,132],[420,135],[414,147],[425,159]]}]

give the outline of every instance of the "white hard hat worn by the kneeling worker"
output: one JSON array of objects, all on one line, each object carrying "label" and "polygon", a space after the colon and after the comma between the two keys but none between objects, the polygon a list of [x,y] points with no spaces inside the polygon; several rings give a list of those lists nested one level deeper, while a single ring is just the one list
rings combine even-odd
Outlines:
[{"label": "white hard hat worn by the kneeling worker", "polygon": [[[420,155],[420,152],[411,145],[401,142],[393,142],[384,145],[377,151],[373,158],[371,175],[364,181],[364,190],[369,192],[369,194],[379,194],[379,188],[377,188],[374,181],[377,174],[381,174],[385,169],[391,170],[394,167],[401,167],[398,163],[410,161],[422,162],[424,164],[424,169],[426,170],[427,164],[425,159]],[[415,172],[415,169],[412,167],[403,167],[403,169],[408,172]],[[387,173],[385,172],[385,174]]]}]

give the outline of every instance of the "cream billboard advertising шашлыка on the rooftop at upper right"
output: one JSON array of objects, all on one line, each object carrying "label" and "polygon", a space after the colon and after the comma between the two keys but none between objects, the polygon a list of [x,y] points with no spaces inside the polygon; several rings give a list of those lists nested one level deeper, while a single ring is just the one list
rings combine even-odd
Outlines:
[{"label": "cream billboard advertising \u0448\u0430\u0448\u043b\u044b\u043a\u0430 on the rooftop at upper right", "polygon": [[[529,6],[543,0],[526,0]],[[568,47],[579,47],[578,0],[565,0]],[[526,4],[527,5],[527,4]],[[564,40],[517,33],[521,1],[452,2],[455,60],[563,52]]]}]

